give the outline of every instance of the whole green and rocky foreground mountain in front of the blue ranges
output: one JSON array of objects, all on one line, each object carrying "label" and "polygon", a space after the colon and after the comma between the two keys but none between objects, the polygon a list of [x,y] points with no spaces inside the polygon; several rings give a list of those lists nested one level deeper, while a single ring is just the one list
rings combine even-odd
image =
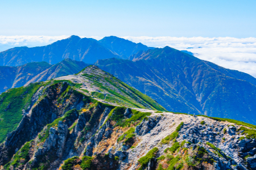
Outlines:
[{"label": "whole green and rocky foreground mountain in front of the blue ranges", "polygon": [[166,112],[97,66],[0,102],[1,169],[256,168],[256,126]]}]

